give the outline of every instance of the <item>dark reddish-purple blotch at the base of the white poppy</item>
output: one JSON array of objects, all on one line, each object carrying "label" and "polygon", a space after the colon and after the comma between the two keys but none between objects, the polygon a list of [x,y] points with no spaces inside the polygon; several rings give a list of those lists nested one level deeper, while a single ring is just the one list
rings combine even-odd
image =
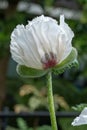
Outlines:
[{"label": "dark reddish-purple blotch at the base of the white poppy", "polygon": [[49,54],[45,53],[45,56],[41,59],[41,62],[43,63],[44,69],[52,68],[57,64],[56,55],[52,52]]}]

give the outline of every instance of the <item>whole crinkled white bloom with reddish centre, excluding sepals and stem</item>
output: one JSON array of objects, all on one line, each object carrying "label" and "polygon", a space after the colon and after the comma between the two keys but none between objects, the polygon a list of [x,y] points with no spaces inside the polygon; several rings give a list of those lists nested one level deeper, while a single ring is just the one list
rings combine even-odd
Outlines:
[{"label": "whole crinkled white bloom with reddish centre, excluding sepals and stem", "polygon": [[45,16],[18,25],[11,35],[12,58],[19,64],[35,69],[48,69],[60,64],[72,50],[74,34],[60,16],[60,24]]}]

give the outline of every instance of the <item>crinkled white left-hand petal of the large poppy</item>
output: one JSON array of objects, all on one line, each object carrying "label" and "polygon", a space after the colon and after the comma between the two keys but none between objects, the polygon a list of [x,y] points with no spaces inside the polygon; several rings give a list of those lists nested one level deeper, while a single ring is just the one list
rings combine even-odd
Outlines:
[{"label": "crinkled white left-hand petal of the large poppy", "polygon": [[38,52],[35,46],[32,46],[32,43],[28,40],[24,26],[19,25],[14,29],[11,35],[10,48],[12,57],[18,64],[37,69],[42,67]]}]

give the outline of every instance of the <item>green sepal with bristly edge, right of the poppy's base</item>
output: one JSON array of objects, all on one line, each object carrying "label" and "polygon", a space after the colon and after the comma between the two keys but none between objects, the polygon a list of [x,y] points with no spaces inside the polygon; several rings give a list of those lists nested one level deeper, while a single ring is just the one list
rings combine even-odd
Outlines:
[{"label": "green sepal with bristly edge, right of the poppy's base", "polygon": [[66,69],[70,69],[71,67],[76,67],[76,66],[78,66],[77,51],[75,48],[72,48],[72,51],[69,54],[69,56],[65,60],[63,60],[60,64],[55,66],[52,69],[52,71],[54,74],[61,74]]}]

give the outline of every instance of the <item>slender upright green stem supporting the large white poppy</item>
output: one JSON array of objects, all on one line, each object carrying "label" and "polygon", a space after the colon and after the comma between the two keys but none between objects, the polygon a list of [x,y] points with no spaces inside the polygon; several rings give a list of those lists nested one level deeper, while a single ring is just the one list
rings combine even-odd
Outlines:
[{"label": "slender upright green stem supporting the large white poppy", "polygon": [[47,74],[47,87],[48,87],[48,104],[49,104],[49,112],[50,112],[52,130],[58,130],[57,123],[56,123],[56,116],[55,116],[54,100],[53,100],[51,72],[48,72],[48,74]]}]

